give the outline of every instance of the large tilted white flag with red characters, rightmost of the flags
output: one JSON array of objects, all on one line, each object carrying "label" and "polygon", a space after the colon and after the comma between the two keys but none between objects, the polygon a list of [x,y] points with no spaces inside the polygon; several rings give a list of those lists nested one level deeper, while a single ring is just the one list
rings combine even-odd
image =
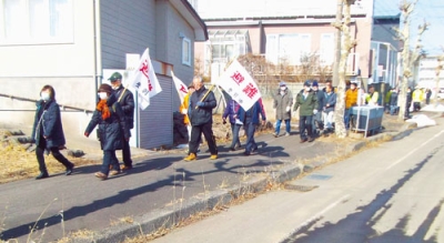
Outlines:
[{"label": "large tilted white flag with red characters, rightmost of the flags", "polygon": [[261,98],[258,84],[238,60],[230,64],[218,79],[216,84],[222,87],[245,111]]}]

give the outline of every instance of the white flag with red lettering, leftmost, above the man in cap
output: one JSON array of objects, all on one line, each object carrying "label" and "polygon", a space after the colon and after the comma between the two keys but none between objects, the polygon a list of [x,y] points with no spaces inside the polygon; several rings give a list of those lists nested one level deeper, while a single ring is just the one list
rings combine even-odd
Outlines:
[{"label": "white flag with red lettering, leftmost, above the man in cap", "polygon": [[139,107],[142,110],[150,105],[150,98],[153,98],[162,91],[151,63],[148,48],[143,52],[139,65],[129,78],[129,85],[133,87],[138,91]]}]

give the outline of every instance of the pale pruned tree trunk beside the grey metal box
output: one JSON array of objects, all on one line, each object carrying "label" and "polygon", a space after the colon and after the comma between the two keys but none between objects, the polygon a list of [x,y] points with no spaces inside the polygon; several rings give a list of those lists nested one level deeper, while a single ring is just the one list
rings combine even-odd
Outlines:
[{"label": "pale pruned tree trunk beside the grey metal box", "polygon": [[345,111],[345,74],[346,74],[346,62],[351,50],[356,45],[356,41],[352,40],[350,34],[350,23],[351,23],[351,4],[353,4],[355,0],[343,0],[344,9],[343,22],[334,22],[333,26],[341,30],[343,34],[341,41],[341,60],[339,63],[339,83],[337,83],[337,98],[336,105],[334,112],[334,124],[335,124],[335,133],[340,139],[346,138],[346,129],[344,124],[344,111]]}]

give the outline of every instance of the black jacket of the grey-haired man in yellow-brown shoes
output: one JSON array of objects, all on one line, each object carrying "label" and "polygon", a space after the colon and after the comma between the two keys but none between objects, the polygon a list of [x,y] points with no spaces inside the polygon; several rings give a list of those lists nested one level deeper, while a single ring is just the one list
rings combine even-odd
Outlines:
[{"label": "black jacket of the grey-haired man in yellow-brown shoes", "polygon": [[214,98],[214,93],[212,91],[203,100],[204,107],[200,107],[195,109],[198,102],[202,100],[203,95],[209,90],[202,87],[200,90],[196,90],[190,97],[190,107],[188,108],[188,114],[191,121],[191,125],[201,125],[205,123],[213,123],[213,108],[216,107],[216,101]]}]

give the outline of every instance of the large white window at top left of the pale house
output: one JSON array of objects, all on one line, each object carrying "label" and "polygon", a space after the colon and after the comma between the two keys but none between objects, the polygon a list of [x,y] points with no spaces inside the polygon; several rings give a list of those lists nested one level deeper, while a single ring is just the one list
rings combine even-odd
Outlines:
[{"label": "large white window at top left of the pale house", "polygon": [[73,41],[72,0],[0,1],[0,44]]}]

